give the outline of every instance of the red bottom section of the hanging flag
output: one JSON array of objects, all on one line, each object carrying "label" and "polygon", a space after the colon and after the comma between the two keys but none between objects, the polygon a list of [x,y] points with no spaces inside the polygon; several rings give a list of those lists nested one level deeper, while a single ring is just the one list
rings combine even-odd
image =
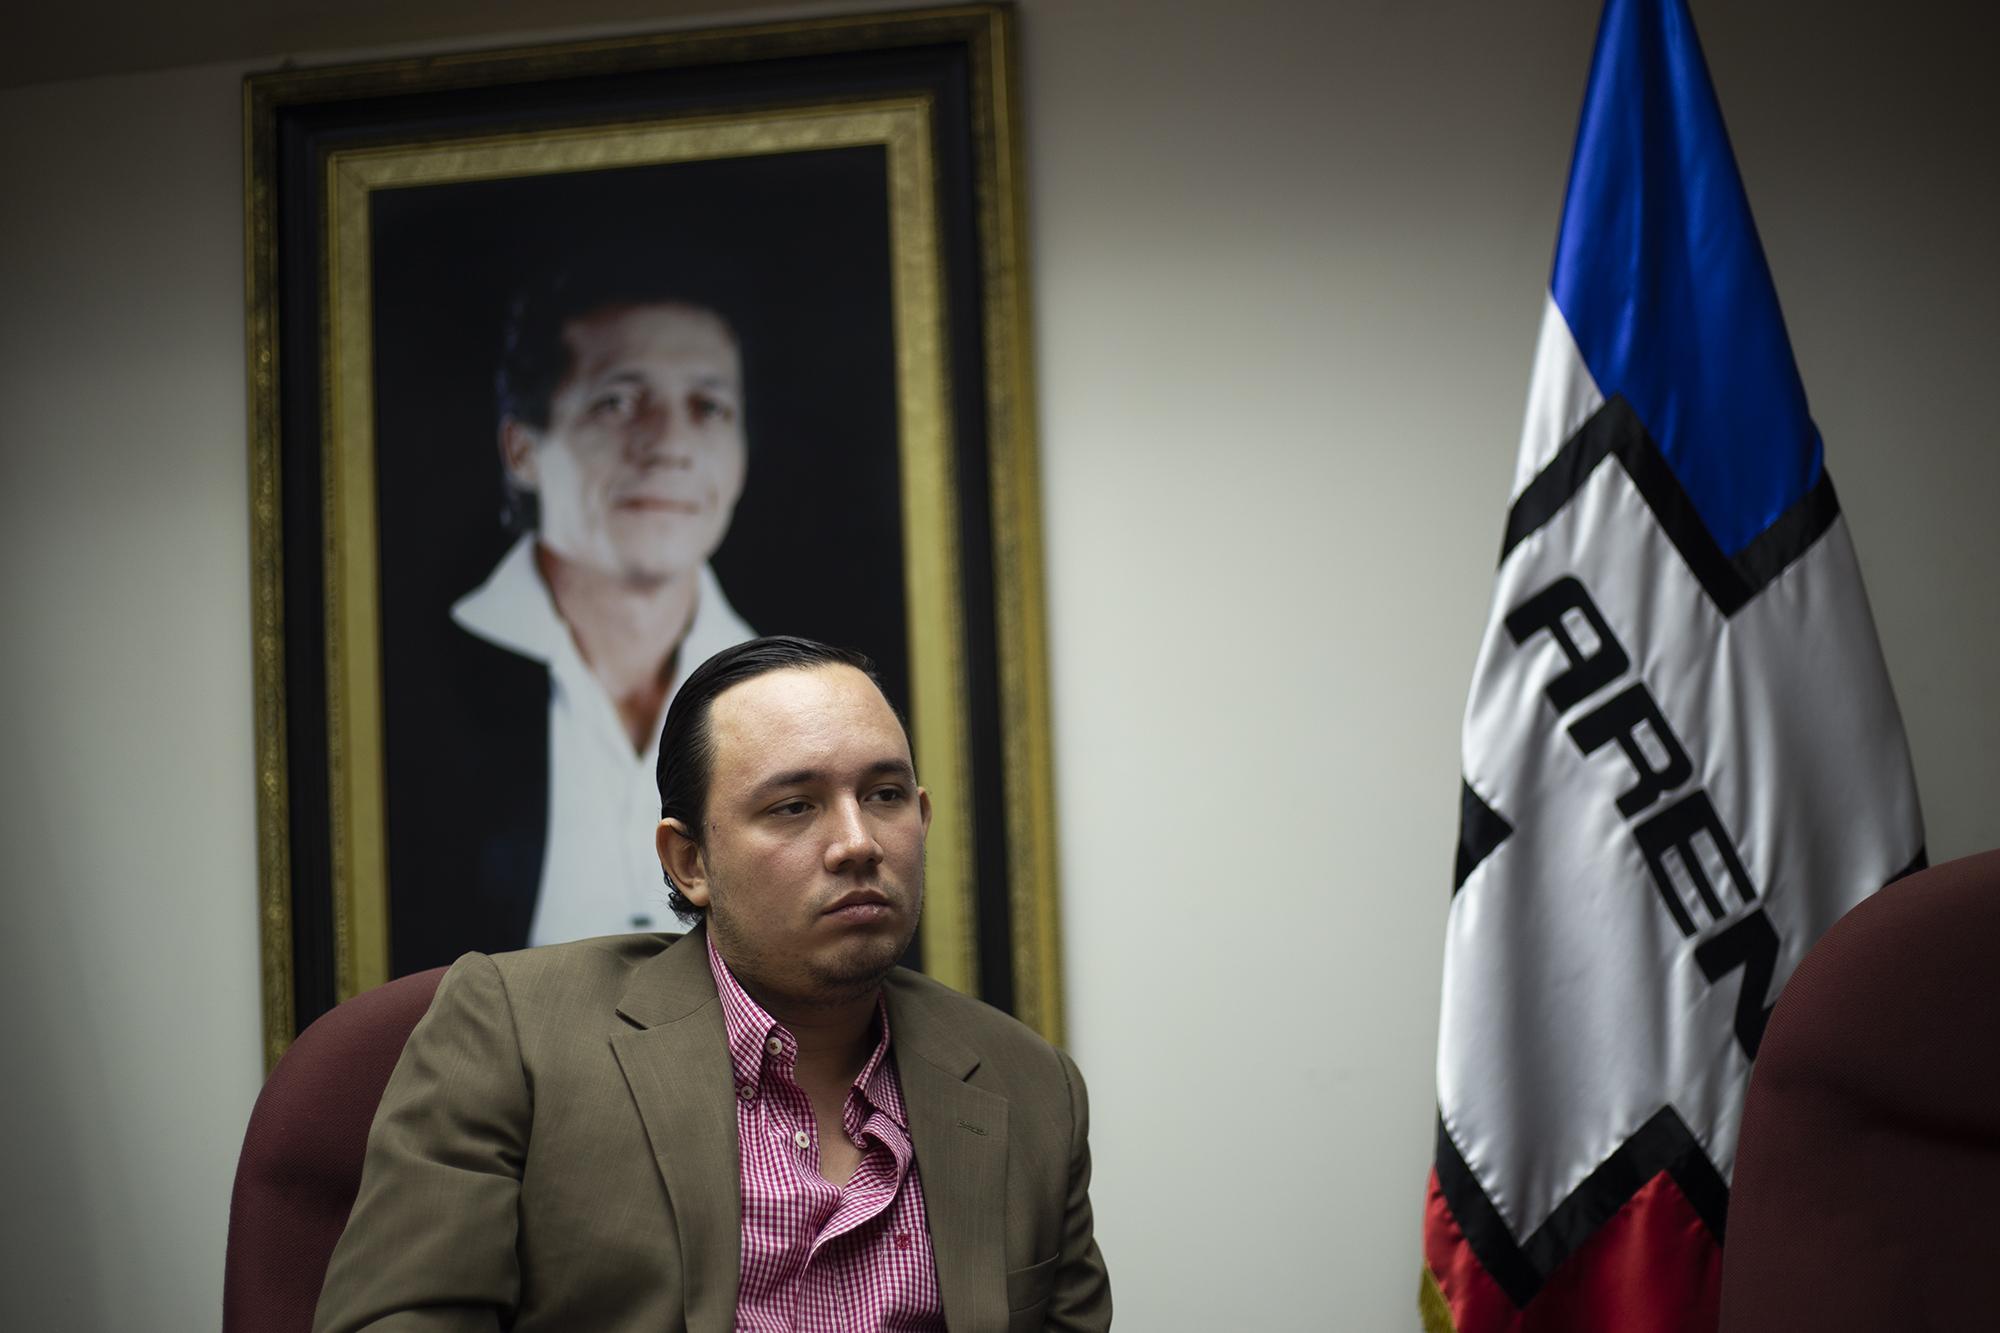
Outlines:
[{"label": "red bottom section of the hanging flag", "polygon": [[1712,1333],[1722,1295],[1722,1247],[1664,1171],[1556,1269],[1526,1311],[1472,1255],[1436,1173],[1424,1261],[1458,1333]]}]

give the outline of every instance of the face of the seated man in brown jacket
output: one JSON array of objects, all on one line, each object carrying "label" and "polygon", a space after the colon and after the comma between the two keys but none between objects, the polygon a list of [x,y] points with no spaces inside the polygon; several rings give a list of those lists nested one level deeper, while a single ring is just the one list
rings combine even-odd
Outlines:
[{"label": "face of the seated man in brown jacket", "polygon": [[706,837],[676,883],[752,991],[866,995],[916,933],[930,829],[888,701],[852,666],[770,671],[716,695],[708,725]]}]

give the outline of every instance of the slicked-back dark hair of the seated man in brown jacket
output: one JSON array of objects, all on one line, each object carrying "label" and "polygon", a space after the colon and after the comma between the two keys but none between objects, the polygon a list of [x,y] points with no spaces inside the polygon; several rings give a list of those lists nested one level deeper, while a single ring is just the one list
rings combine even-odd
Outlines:
[{"label": "slicked-back dark hair of the seated man in brown jacket", "polygon": [[[716,739],[708,719],[714,713],[716,695],[772,671],[810,671],[814,666],[852,666],[868,677],[878,691],[882,689],[882,679],[866,654],[794,634],[750,638],[716,652],[688,673],[688,679],[674,691],[674,703],[666,709],[666,727],[660,729],[660,763],[654,769],[660,783],[660,819],[678,819],[690,831],[690,841],[696,847],[708,833],[708,781],[716,761]],[[888,695],[884,695],[886,699]],[[908,741],[910,725],[902,721],[896,705],[890,705],[890,713],[896,713]],[[680,893],[672,875],[666,879],[666,903],[682,921],[702,919],[702,909]]]}]

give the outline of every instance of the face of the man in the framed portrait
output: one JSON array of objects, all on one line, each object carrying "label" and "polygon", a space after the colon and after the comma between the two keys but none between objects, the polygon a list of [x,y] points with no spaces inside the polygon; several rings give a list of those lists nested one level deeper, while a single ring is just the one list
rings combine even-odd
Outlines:
[{"label": "face of the man in the framed portrait", "polygon": [[500,430],[508,474],[540,500],[542,544],[634,582],[700,568],[744,488],[728,326],[698,306],[620,306],[564,324],[564,342],[548,430]]}]

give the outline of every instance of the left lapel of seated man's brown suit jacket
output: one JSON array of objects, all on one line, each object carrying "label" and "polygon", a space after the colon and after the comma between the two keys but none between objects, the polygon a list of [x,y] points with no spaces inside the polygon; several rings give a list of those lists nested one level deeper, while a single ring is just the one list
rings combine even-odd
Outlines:
[{"label": "left lapel of seated man's brown suit jacket", "polygon": [[688,1333],[728,1333],[742,1271],[736,1075],[706,931],[642,965],[618,1017],[636,1029],[612,1037],[612,1053],[674,1205]]}]

